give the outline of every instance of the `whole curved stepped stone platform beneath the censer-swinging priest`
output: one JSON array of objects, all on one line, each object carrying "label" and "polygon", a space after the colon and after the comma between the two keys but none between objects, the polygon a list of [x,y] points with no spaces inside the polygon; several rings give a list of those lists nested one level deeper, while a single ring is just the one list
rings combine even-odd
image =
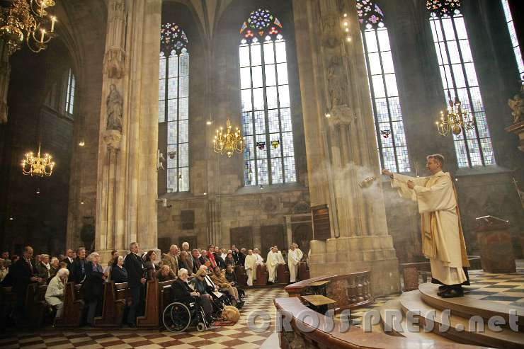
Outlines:
[{"label": "whole curved stepped stone platform beneath the censer-swinging priest", "polygon": [[[524,307],[501,304],[474,297],[445,299],[437,295],[438,285],[422,284],[418,290],[404,292],[399,299],[387,302],[380,308],[385,330],[405,338],[435,339],[493,348],[524,348]],[[387,316],[387,311],[390,315]],[[401,319],[394,320],[394,311]],[[513,311],[514,316],[509,316]],[[448,315],[449,313],[449,315]],[[411,326],[408,319],[418,319],[419,325]],[[484,324],[483,329],[482,325]],[[510,321],[519,325],[510,325]],[[432,332],[424,331],[424,325],[434,326]],[[490,328],[500,325],[500,328]],[[390,330],[389,330],[390,329]]]}]

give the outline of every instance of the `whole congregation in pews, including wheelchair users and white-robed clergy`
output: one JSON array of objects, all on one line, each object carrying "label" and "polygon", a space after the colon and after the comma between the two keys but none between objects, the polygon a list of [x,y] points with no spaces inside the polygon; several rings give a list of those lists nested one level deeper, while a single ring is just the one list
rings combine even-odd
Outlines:
[{"label": "whole congregation in pews, including wheelchair users and white-robed clergy", "polygon": [[[112,251],[104,265],[95,251],[66,251],[33,258],[25,246],[22,256],[4,252],[0,259],[0,319],[2,327],[120,327],[160,328],[183,331],[189,325],[199,331],[217,321],[231,319],[245,303],[241,287],[287,284],[309,278],[304,254],[296,244],[287,254],[273,246],[266,263],[258,248],[224,248],[210,245],[181,250],[139,253],[137,243],[120,256]],[[177,307],[176,304],[183,304]],[[180,309],[190,311],[180,323]],[[229,316],[229,317],[228,317]],[[167,319],[169,317],[169,319]],[[233,315],[238,320],[239,314]],[[184,316],[182,316],[185,319]]]}]

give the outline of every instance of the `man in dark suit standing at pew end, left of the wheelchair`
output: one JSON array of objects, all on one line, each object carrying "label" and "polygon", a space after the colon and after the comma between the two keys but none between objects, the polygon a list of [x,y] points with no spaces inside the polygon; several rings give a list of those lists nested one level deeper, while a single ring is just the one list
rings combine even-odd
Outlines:
[{"label": "man in dark suit standing at pew end, left of the wheelchair", "polygon": [[137,313],[142,307],[144,299],[144,261],[138,254],[138,244],[133,242],[129,246],[130,253],[125,256],[124,267],[127,270],[127,286],[131,290],[132,304],[127,313],[127,325],[136,328]]}]

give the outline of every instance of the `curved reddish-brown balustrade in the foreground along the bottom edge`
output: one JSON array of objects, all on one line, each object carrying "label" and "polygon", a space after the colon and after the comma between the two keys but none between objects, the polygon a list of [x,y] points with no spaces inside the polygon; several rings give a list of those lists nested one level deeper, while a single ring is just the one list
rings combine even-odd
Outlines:
[{"label": "curved reddish-brown balustrade in the foreground along the bottom edge", "polygon": [[[355,326],[345,329],[341,322],[331,321],[326,316],[312,311],[296,297],[277,298],[274,302],[283,318],[282,326],[276,324],[276,327],[280,328],[279,340],[282,349],[484,348],[431,339],[408,339],[381,332],[365,332]],[[279,318],[280,316],[277,316],[277,321],[280,321]]]}]

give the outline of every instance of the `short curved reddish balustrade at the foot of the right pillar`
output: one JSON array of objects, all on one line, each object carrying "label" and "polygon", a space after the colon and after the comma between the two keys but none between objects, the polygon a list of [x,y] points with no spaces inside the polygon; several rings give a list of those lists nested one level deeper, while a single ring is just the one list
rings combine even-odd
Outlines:
[{"label": "short curved reddish balustrade at the foot of the right pillar", "polygon": [[336,312],[343,309],[355,309],[373,302],[370,292],[370,272],[361,271],[346,275],[318,276],[287,285],[284,289],[289,297],[311,294],[311,284],[317,281],[329,281],[326,285],[326,297],[334,299],[331,306]]}]

